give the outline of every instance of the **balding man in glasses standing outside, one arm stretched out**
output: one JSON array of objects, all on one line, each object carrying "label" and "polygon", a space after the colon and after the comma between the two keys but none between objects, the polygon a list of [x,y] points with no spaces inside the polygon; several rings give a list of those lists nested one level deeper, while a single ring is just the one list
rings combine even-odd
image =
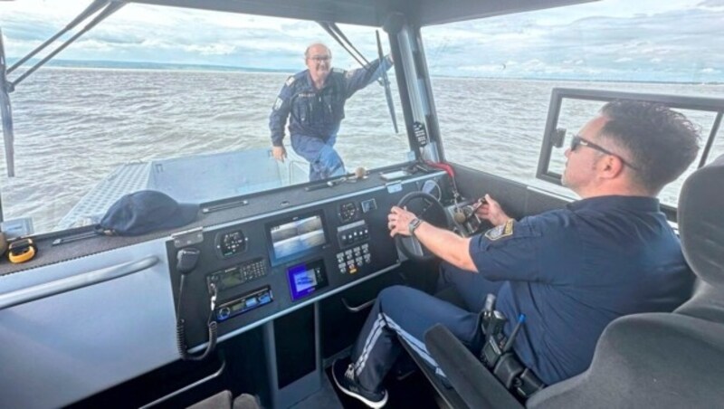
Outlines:
[{"label": "balding man in glasses standing outside, one arm stretched out", "polygon": [[332,52],[314,43],[304,52],[307,70],[289,77],[269,117],[271,153],[284,161],[282,140],[289,119],[291,147],[310,162],[310,181],[345,175],[342,158],[334,149],[345,102],[392,67],[392,57],[370,62],[352,71],[332,69]]}]

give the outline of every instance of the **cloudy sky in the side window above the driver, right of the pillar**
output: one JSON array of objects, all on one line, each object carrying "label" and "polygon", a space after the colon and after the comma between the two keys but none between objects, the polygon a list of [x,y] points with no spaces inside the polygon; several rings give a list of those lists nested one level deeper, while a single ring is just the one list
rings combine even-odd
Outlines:
[{"label": "cloudy sky in the side window above the driver, right of the pillar", "polygon": [[[558,74],[571,79],[628,80],[633,76],[690,81],[692,66],[724,66],[722,26],[724,10],[702,9],[698,2],[602,2],[454,24],[442,38],[433,36],[437,43],[426,42],[426,49],[428,55],[436,47],[460,50],[456,57],[463,63],[459,66],[485,66],[496,60],[541,62],[521,64],[521,76],[547,75],[557,67]],[[436,29],[425,28],[424,37]],[[461,32],[466,34],[458,41],[455,33]],[[474,42],[468,38],[470,33],[484,40]],[[506,33],[531,35],[525,42],[510,43],[505,41],[505,35],[510,35]],[[455,67],[439,61],[431,65],[448,75]],[[724,81],[720,73],[713,74],[719,77],[709,81]]]}]

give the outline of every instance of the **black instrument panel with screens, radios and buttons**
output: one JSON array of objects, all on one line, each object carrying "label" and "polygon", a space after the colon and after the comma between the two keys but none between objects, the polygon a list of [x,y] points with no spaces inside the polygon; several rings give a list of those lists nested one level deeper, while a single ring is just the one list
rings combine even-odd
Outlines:
[{"label": "black instrument panel with screens, radios and buttons", "polygon": [[186,274],[180,307],[180,249],[168,241],[186,345],[208,341],[209,319],[218,322],[219,337],[242,332],[394,267],[399,260],[386,228],[390,207],[424,180],[440,177],[418,176],[206,228],[203,242],[190,246],[200,255],[195,270]]}]

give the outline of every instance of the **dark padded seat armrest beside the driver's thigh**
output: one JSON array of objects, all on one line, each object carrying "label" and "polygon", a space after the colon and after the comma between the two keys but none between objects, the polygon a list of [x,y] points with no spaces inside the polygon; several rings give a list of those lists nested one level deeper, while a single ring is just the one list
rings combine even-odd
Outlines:
[{"label": "dark padded seat armrest beside the driver's thigh", "polygon": [[464,347],[438,324],[424,334],[424,345],[465,404],[474,408],[517,408],[523,405]]}]

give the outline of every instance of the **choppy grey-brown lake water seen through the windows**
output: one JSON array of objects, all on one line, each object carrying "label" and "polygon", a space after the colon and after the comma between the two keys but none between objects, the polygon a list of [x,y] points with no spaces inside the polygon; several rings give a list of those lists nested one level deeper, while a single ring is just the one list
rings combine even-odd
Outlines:
[{"label": "choppy grey-brown lake water seen through the windows", "polygon": [[[11,94],[16,177],[6,176],[3,158],[5,220],[29,216],[36,233],[52,230],[93,186],[130,161],[269,147],[269,112],[286,78],[279,73],[211,71],[35,72]],[[434,78],[448,160],[550,186],[537,181],[535,172],[554,86],[724,96],[722,85]],[[396,97],[395,104],[397,121],[403,124]],[[562,120],[576,131],[596,106],[600,104],[571,107]],[[395,135],[381,87],[373,84],[359,91],[346,110],[338,151],[348,169],[405,160],[407,138]],[[707,129],[713,116],[692,119]],[[724,138],[713,152],[724,153]],[[557,161],[558,166],[562,163]],[[674,186],[662,201],[675,203],[677,191]]]}]

